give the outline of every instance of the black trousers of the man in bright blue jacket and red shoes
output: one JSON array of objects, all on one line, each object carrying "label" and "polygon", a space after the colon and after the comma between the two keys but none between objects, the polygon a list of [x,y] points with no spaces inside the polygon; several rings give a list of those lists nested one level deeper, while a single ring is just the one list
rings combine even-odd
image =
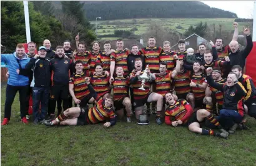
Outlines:
[{"label": "black trousers of the man in bright blue jacket and red shoes", "polygon": [[26,86],[12,86],[8,85],[6,87],[6,102],[4,105],[4,117],[10,120],[11,118],[11,106],[13,103],[13,100],[15,98],[15,95],[19,91],[19,103],[20,103],[20,112],[21,112],[21,118],[26,117],[28,114],[28,107],[27,105],[29,102],[28,97],[28,91],[29,91],[29,85]]}]

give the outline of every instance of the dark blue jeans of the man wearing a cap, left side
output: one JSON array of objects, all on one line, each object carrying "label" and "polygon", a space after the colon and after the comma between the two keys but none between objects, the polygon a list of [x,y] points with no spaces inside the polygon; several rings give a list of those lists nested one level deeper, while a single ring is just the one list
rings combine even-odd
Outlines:
[{"label": "dark blue jeans of the man wearing a cap, left side", "polygon": [[[33,119],[43,120],[46,117],[48,109],[50,87],[32,87],[33,99]],[[39,113],[39,104],[41,102],[41,114]]]}]

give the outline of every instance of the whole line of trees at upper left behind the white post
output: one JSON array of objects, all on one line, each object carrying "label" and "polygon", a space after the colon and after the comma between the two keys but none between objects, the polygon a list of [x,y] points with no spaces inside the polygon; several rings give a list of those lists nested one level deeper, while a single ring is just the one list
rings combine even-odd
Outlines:
[{"label": "whole line of trees at upper left behind the white post", "polygon": [[[62,1],[62,9],[56,10],[51,1],[29,1],[31,41],[39,46],[44,39],[49,39],[52,46],[62,45],[65,40],[75,44],[79,32],[81,41],[91,43],[96,34],[83,7],[79,1]],[[23,3],[1,1],[1,44],[6,52],[13,52],[17,43],[26,43]]]}]

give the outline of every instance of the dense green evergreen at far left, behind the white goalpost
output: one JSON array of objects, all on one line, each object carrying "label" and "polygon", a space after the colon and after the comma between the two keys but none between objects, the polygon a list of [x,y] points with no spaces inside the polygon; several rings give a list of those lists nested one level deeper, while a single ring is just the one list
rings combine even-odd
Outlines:
[{"label": "dense green evergreen at far left, behind the white goalpost", "polygon": [[[61,22],[35,11],[32,2],[29,2],[29,22],[31,41],[36,42],[37,46],[41,46],[44,39],[49,39],[55,45],[71,37],[71,34],[63,31]],[[6,52],[13,52],[17,43],[26,42],[22,1],[1,1],[1,39]]]}]

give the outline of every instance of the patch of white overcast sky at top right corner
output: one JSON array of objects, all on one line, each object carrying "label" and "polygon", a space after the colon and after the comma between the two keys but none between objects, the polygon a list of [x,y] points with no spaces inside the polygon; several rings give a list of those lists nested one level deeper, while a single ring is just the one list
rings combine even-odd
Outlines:
[{"label": "patch of white overcast sky at top right corner", "polygon": [[252,18],[254,1],[202,1],[210,7],[235,12],[240,18]]}]

